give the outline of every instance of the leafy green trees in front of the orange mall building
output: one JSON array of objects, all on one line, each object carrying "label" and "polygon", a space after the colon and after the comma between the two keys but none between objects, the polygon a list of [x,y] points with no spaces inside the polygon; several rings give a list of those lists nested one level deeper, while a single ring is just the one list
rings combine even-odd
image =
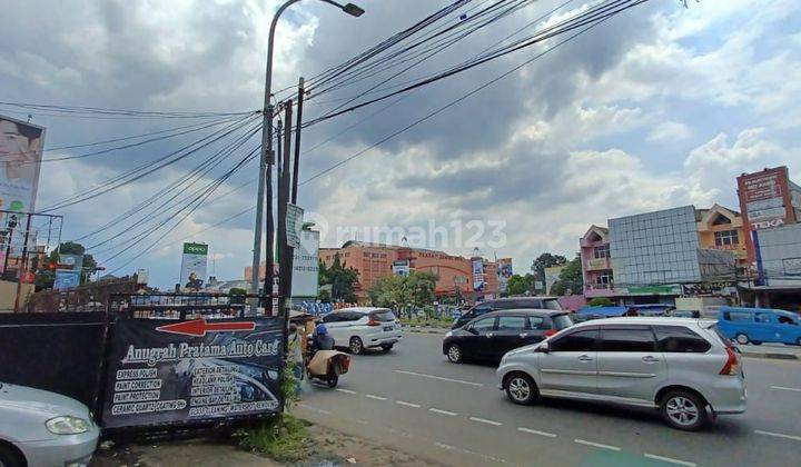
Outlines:
[{"label": "leafy green trees in front of the orange mall building", "polygon": [[428,271],[412,271],[408,277],[385,276],[378,279],[368,295],[373,306],[398,309],[408,304],[415,308],[434,304],[437,276]]}]

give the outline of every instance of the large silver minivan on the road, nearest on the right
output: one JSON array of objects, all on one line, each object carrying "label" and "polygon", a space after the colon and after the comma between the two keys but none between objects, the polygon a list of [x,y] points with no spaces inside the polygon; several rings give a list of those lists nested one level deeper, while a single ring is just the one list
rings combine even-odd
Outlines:
[{"label": "large silver minivan on the road, nearest on the right", "polygon": [[496,376],[515,404],[548,396],[656,407],[670,426],[683,430],[700,429],[710,413],[745,410],[740,358],[711,320],[582,322],[510,351]]}]

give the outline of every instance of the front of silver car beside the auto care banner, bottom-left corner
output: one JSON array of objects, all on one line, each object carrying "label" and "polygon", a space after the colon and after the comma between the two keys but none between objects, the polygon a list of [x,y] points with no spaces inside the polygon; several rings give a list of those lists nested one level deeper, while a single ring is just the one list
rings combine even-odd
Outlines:
[{"label": "front of silver car beside the auto care banner, bottom-left corner", "polygon": [[0,466],[87,465],[99,435],[83,404],[0,382]]}]

